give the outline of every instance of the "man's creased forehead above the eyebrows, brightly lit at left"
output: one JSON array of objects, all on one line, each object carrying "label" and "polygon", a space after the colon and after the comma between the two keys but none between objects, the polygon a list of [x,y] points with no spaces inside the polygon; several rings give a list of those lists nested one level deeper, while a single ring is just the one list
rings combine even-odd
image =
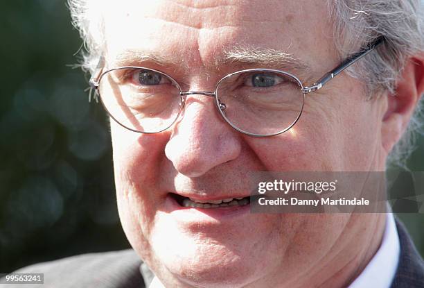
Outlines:
[{"label": "man's creased forehead above the eyebrows, brightly lit at left", "polygon": [[323,58],[331,62],[333,31],[326,2],[317,2],[109,1],[104,12],[107,59],[127,60],[134,54],[209,68],[235,47],[250,47],[286,53],[311,66]]}]

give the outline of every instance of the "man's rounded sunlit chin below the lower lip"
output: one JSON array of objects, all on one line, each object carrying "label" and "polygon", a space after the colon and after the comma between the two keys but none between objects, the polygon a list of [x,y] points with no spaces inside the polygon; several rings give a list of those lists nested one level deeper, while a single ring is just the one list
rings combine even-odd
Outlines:
[{"label": "man's rounded sunlit chin below the lower lip", "polygon": [[263,271],[255,260],[258,251],[243,249],[243,237],[230,246],[177,227],[164,230],[159,226],[152,232],[150,243],[155,262],[161,266],[158,270],[178,282],[194,287],[243,287]]}]

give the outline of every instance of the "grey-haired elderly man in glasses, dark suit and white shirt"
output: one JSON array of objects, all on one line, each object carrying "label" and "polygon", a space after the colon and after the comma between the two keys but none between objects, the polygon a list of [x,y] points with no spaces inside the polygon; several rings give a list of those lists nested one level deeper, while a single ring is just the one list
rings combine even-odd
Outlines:
[{"label": "grey-haired elderly man in glasses, dark suit and white shirt", "polygon": [[46,287],[424,287],[391,213],[254,214],[245,187],[255,171],[385,170],[424,92],[420,1],[69,6],[135,253],[24,271]]}]

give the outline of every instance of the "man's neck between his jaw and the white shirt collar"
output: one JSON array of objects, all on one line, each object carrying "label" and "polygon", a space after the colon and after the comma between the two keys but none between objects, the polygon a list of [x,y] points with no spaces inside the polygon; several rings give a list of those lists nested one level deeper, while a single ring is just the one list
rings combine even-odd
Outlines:
[{"label": "man's neck between his jaw and the white shirt collar", "polygon": [[350,220],[326,256],[310,264],[297,278],[288,279],[284,273],[274,273],[262,284],[249,287],[338,288],[348,285],[362,273],[380,248],[385,232],[385,213],[351,214]]}]

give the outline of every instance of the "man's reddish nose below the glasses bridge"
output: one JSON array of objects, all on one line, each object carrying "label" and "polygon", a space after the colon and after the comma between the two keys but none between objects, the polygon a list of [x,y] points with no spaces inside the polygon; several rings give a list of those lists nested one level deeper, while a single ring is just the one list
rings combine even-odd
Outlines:
[{"label": "man's reddish nose below the glasses bridge", "polygon": [[179,173],[194,178],[235,160],[241,144],[240,135],[219,115],[213,95],[186,95],[184,114],[173,126],[165,154]]}]

